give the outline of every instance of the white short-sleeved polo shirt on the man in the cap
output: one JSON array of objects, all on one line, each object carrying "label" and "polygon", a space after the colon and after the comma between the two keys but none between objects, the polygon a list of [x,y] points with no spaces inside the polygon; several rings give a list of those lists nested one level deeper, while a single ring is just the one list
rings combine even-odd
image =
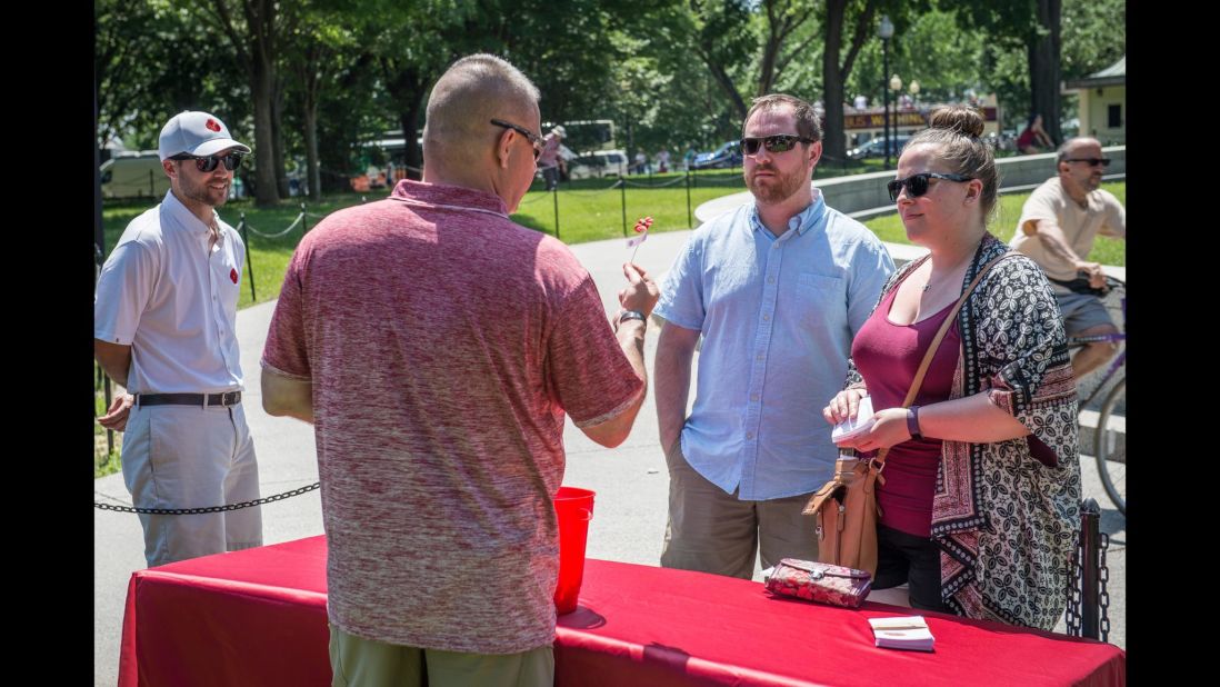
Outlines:
[{"label": "white short-sleeved polo shirt on the man in the cap", "polygon": [[[214,211],[215,215],[215,211]],[[220,240],[174,195],[127,225],[93,300],[94,338],[132,347],[127,390],[242,388],[234,322],[245,245],[216,216]]]}]

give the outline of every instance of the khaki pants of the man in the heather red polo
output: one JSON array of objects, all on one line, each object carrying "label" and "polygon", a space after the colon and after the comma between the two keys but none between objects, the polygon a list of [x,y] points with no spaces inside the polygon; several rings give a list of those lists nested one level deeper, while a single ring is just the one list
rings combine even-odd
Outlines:
[{"label": "khaki pants of the man in the heather red polo", "polygon": [[332,687],[551,687],[551,647],[520,654],[467,654],[387,644],[331,626]]}]

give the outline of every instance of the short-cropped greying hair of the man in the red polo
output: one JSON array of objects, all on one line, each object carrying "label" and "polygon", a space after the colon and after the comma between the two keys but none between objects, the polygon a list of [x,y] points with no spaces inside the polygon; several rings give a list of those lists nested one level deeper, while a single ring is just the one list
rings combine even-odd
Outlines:
[{"label": "short-cropped greying hair of the man in the red polo", "polygon": [[445,162],[473,162],[483,142],[501,133],[492,118],[527,116],[540,96],[538,87],[508,60],[486,52],[458,60],[428,95],[425,160],[439,155]]}]

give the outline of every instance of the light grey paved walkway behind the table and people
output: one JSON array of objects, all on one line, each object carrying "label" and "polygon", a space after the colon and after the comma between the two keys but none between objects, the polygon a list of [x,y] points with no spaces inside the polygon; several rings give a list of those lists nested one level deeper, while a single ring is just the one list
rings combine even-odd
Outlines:
[{"label": "light grey paved walkway behind the table and people", "polygon": [[[660,277],[669,270],[689,234],[691,231],[650,234],[640,245],[636,262],[654,277]],[[623,239],[614,239],[571,246],[597,282],[608,312],[619,309],[617,293],[623,282],[621,265],[630,256],[625,245]],[[317,481],[312,427],[296,420],[271,417],[262,411],[259,358],[273,310],[274,303],[265,303],[239,311],[237,317],[246,386],[243,403],[259,455],[264,495]],[[650,328],[644,350],[650,377],[655,351],[656,331]],[[691,398],[693,400],[694,394]],[[588,555],[658,565],[665,534],[669,473],[658,448],[660,441],[651,383],[636,427],[623,445],[604,449],[584,437],[571,421],[564,442],[567,449],[564,483],[597,492]],[[1126,519],[1107,499],[1093,460],[1082,460],[1082,466],[1086,495],[1097,498],[1102,508],[1107,509],[1103,530],[1111,537],[1110,641],[1125,647]],[[94,499],[131,505],[122,475],[95,480]],[[262,520],[264,542],[267,544],[321,534],[318,492],[265,505]],[[94,510],[94,683],[98,686],[112,687],[117,680],[127,582],[133,571],[144,567],[143,549],[140,526],[134,515]]]}]

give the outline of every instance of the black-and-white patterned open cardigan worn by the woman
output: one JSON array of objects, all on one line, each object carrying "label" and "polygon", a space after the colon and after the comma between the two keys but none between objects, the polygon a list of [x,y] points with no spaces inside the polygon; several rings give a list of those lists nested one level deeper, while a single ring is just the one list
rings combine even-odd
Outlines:
[{"label": "black-and-white patterned open cardigan worn by the woman", "polygon": [[[1005,251],[1003,242],[986,234],[963,290]],[[881,298],[926,259],[891,276]],[[961,349],[949,398],[986,390],[1031,434],[989,444],[943,443],[932,503],[941,595],[958,615],[1050,630],[1066,605],[1080,531],[1076,383],[1059,306],[1042,270],[1014,254],[978,283],[958,327]],[[854,365],[847,386],[864,386]],[[1057,465],[1033,458],[1031,442],[1046,444]]]}]

